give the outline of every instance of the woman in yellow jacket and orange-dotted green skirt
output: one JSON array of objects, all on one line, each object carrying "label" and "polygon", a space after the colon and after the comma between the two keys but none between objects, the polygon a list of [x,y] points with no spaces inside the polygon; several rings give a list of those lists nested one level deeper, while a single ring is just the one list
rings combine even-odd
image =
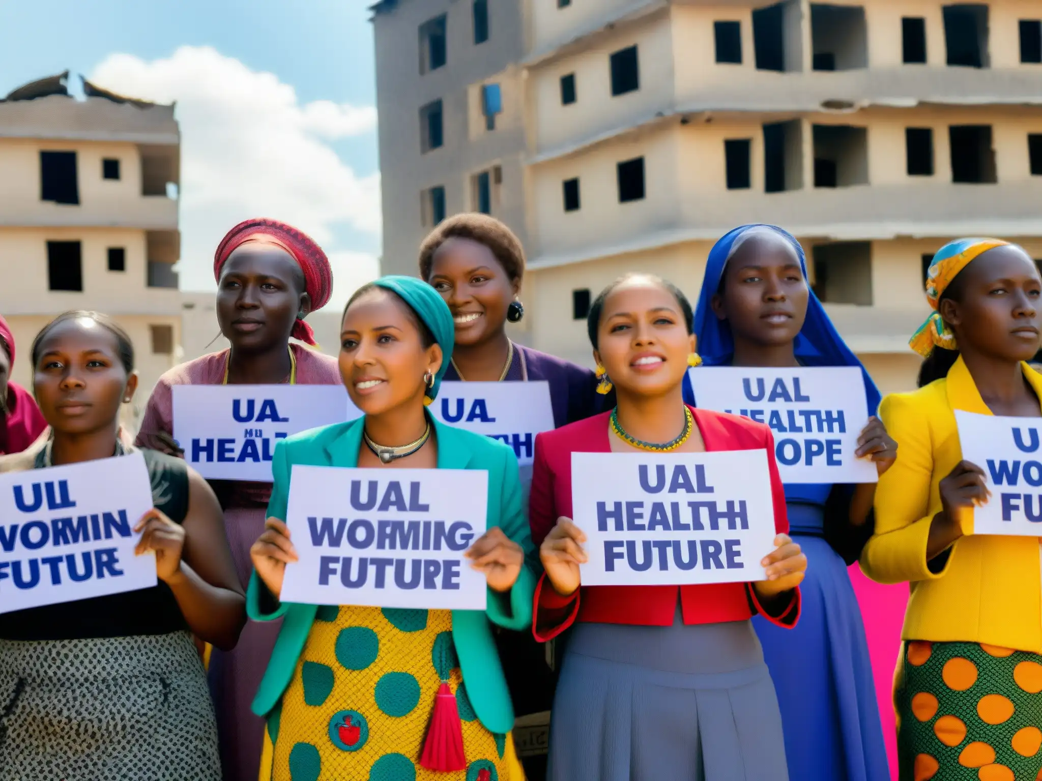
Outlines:
[{"label": "woman in yellow jacket and orange-dotted green skirt", "polygon": [[1042,415],[1042,376],[1025,362],[1040,297],[1021,248],[945,245],[926,279],[934,313],[911,343],[925,356],[920,387],[883,401],[900,455],[879,480],[862,565],[912,589],[894,692],[901,779],[1042,777],[1039,538],[974,534],[974,507],[998,497],[989,464],[963,460],[954,414]]}]

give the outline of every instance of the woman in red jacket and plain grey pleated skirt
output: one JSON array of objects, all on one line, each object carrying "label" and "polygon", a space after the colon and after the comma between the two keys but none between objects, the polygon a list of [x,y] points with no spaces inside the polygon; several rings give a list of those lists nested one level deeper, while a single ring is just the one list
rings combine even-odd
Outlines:
[{"label": "woman in red jacket and plain grey pleated skirt", "polygon": [[[795,625],[807,568],[785,534],[770,429],[684,404],[684,376],[698,356],[691,305],[673,285],[623,277],[600,294],[588,322],[602,382],[614,385],[618,406],[539,435],[529,499],[546,570],[536,591],[536,637],[574,625],[553,703],[549,778],[788,779],[778,703],[749,623],[759,612]],[[571,521],[573,454],[731,450],[766,451],[763,479],[777,532],[776,550],[760,562],[767,580],[580,584],[588,556],[586,535]]]}]

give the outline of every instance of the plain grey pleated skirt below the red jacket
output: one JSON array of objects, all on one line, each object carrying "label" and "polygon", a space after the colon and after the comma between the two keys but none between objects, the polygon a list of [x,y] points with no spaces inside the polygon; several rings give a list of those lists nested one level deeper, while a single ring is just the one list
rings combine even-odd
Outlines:
[{"label": "plain grey pleated skirt below the red jacket", "polygon": [[550,781],[788,781],[749,622],[577,624],[550,722]]}]

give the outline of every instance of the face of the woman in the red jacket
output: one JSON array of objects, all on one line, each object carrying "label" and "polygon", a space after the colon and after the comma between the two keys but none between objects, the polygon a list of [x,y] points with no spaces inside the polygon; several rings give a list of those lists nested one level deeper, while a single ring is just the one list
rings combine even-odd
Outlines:
[{"label": "face of the woman in the red jacket", "polygon": [[654,280],[622,282],[601,310],[594,358],[619,392],[661,396],[684,381],[695,337],[676,298]]}]

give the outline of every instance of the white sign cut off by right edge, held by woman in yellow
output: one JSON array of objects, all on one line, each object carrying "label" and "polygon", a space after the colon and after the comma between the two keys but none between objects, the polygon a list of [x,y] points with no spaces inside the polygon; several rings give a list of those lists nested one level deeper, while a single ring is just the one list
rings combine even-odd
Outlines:
[{"label": "white sign cut off by right edge, held by woman in yellow", "polygon": [[973,508],[974,534],[1042,537],[1042,418],[956,410],[963,459],[984,470],[991,490]]}]

